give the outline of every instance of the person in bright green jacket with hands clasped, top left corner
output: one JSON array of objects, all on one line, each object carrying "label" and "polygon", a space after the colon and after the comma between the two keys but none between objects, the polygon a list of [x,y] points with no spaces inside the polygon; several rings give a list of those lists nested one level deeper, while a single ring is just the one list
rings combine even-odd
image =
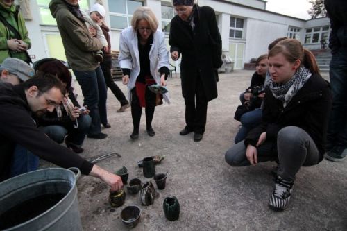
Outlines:
[{"label": "person in bright green jacket with hands clasped, top left corner", "polygon": [[24,18],[14,0],[0,0],[0,17],[10,24],[19,36],[0,20],[0,63],[8,57],[19,58],[27,63],[31,59],[26,52],[31,48]]}]

